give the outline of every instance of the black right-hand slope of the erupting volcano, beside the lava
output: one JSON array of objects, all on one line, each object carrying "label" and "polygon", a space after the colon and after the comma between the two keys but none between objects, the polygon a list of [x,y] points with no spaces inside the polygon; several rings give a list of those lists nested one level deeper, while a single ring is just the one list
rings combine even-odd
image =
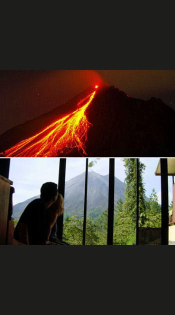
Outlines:
[{"label": "black right-hand slope of the erupting volcano, beside the lava", "polygon": [[87,108],[92,123],[89,156],[174,156],[175,111],[160,99],[128,97],[114,87],[100,89]]}]

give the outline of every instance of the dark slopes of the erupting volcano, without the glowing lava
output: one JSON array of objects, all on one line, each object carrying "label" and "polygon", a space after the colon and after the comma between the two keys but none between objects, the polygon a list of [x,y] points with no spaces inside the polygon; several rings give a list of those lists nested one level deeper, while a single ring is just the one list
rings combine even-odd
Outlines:
[{"label": "dark slopes of the erupting volcano, without the glowing lava", "polygon": [[[55,109],[15,126],[0,135],[1,156],[16,143],[32,137],[56,119],[77,109],[91,95],[88,88]],[[84,148],[63,147],[47,156],[173,157],[175,111],[160,99],[129,97],[114,86],[102,86],[85,109],[89,123]],[[15,156],[15,155],[12,155]],[[20,156],[20,155],[18,155]],[[21,155],[22,156],[22,155]],[[35,155],[30,155],[35,156]],[[42,156],[42,155],[38,155]]]}]

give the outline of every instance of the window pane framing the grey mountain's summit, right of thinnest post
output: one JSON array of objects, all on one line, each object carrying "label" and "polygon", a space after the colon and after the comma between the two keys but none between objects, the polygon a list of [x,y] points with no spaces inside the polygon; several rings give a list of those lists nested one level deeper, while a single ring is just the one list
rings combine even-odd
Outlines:
[{"label": "window pane framing the grey mountain's summit, right of thinnest post", "polygon": [[89,158],[86,244],[106,245],[109,158]]}]

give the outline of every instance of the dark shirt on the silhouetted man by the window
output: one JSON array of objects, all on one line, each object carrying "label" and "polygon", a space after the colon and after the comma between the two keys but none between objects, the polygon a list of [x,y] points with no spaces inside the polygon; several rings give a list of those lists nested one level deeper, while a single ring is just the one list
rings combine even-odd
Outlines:
[{"label": "dark shirt on the silhouetted man by the window", "polygon": [[34,199],[22,212],[14,230],[14,238],[19,240],[18,223],[23,222],[27,225],[29,244],[42,244],[45,240],[46,217],[47,209],[45,208],[43,201],[40,198]]}]

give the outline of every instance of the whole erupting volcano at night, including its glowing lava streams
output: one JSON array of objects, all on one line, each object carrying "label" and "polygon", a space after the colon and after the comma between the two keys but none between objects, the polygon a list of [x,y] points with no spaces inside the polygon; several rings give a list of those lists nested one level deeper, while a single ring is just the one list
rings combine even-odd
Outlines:
[{"label": "whole erupting volcano at night, including its glowing lava streams", "polygon": [[1,156],[173,157],[175,111],[161,99],[90,87],[0,135]]}]

